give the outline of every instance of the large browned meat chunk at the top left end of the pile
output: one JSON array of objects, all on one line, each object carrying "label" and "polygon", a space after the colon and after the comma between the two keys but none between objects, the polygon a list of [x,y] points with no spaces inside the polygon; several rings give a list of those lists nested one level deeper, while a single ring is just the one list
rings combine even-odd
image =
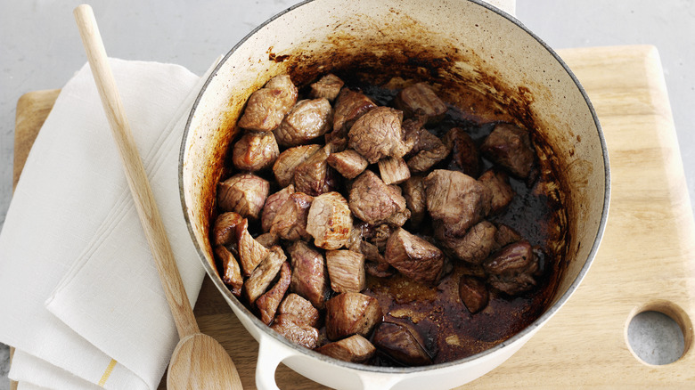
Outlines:
[{"label": "large browned meat chunk at the top left end of the pile", "polygon": [[273,131],[297,102],[297,96],[297,87],[290,76],[275,76],[265,87],[251,93],[238,125],[251,130]]}]

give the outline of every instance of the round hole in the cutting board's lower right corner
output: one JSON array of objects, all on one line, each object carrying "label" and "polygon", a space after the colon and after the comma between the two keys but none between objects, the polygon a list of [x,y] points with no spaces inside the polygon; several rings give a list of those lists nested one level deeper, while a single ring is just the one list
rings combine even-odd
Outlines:
[{"label": "round hole in the cutting board's lower right corner", "polygon": [[692,323],[677,305],[658,301],[635,310],[626,327],[626,343],[642,362],[664,365],[679,360],[691,347]]}]

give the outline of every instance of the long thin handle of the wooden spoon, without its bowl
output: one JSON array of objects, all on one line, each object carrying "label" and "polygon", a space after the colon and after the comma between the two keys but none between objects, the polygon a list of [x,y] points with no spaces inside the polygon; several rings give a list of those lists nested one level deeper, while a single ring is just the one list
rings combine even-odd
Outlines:
[{"label": "long thin handle of the wooden spoon, without its bowl", "polygon": [[82,44],[85,46],[87,59],[92,68],[94,81],[102,98],[102,105],[109,120],[111,133],[116,141],[123,166],[126,170],[127,183],[135,199],[135,208],[140,217],[140,223],[147,242],[150,244],[154,262],[157,265],[159,279],[167,296],[171,313],[176,322],[179,337],[183,338],[194,333],[199,333],[198,324],[186,297],[184,283],[176,267],[174,253],[161,222],[159,208],[152,196],[150,183],[143,167],[143,160],[138,154],[130,125],[123,110],[119,90],[113,79],[109,66],[106,50],[104,49],[99,28],[94,19],[92,7],[87,4],[79,5],[75,9],[79,34]]}]

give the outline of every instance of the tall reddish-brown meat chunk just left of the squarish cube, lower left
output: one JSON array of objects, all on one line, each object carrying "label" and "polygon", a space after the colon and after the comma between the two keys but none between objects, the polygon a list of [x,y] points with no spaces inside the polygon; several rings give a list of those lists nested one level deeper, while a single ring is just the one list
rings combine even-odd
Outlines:
[{"label": "tall reddish-brown meat chunk just left of the squarish cube, lower left", "polygon": [[323,309],[328,294],[328,272],[323,255],[304,241],[296,241],[288,251],[292,262],[291,291],[307,298],[317,309]]}]

